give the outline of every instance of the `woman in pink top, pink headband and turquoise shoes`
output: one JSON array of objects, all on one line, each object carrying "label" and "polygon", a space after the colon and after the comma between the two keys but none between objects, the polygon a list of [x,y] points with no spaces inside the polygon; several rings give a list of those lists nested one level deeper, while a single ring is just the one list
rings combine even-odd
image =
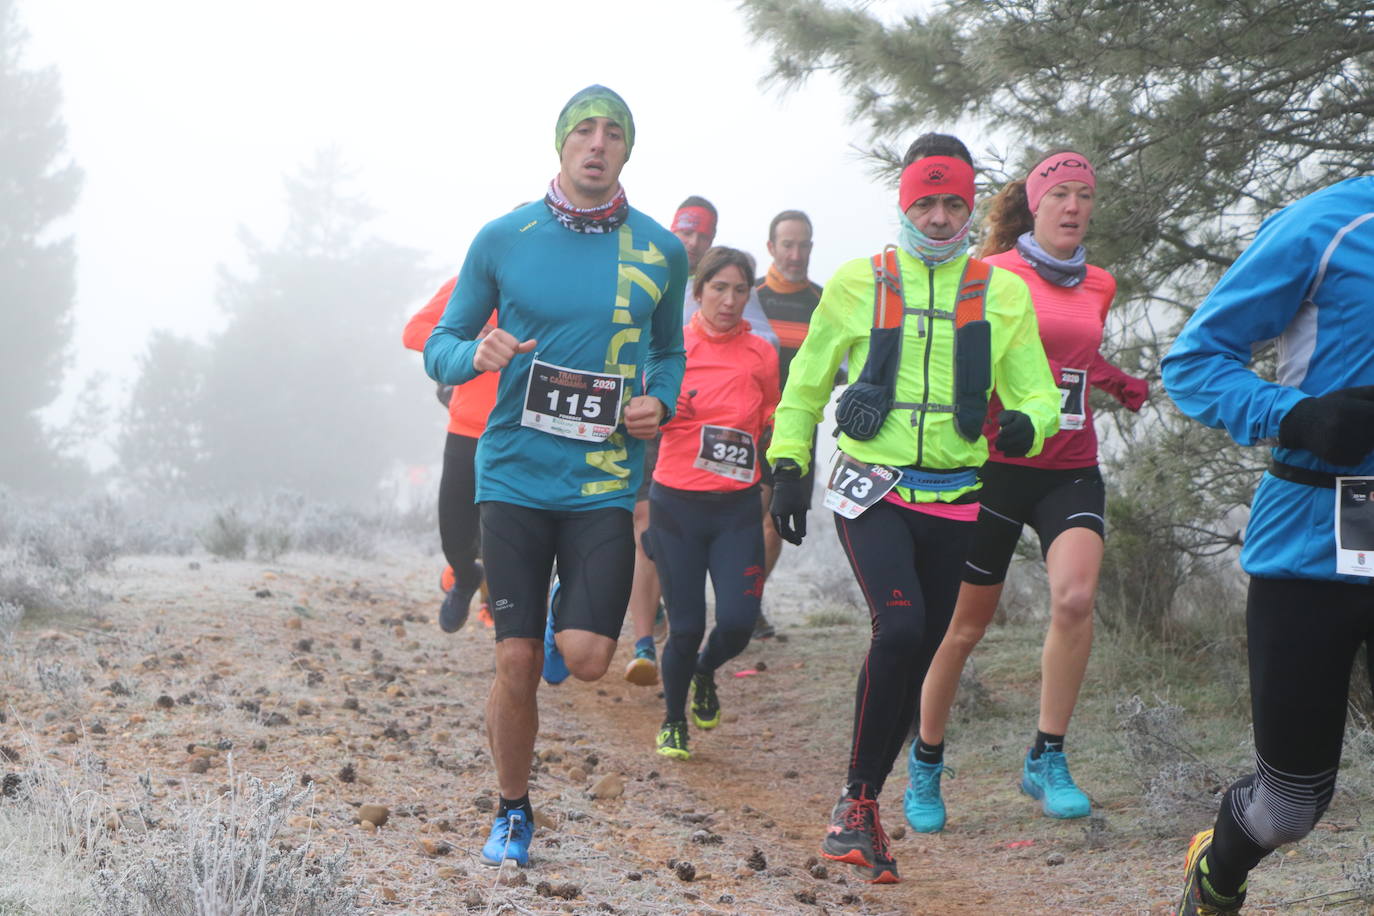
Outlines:
[{"label": "woman in pink top, pink headband and turquoise shoes", "polygon": [[[921,694],[921,732],[911,744],[905,795],[914,829],[944,827],[940,795],[944,731],[963,663],[998,610],[1021,529],[1040,537],[1050,580],[1050,632],[1041,656],[1040,721],[1021,769],[1021,788],[1050,817],[1084,817],[1088,797],[1073,783],[1063,735],[1079,698],[1092,645],[1092,602],[1102,567],[1106,501],[1098,471],[1098,437],[1088,391],[1099,387],[1131,411],[1149,393],[1098,352],[1116,280],[1085,260],[1083,236],[1095,203],[1096,176],[1079,152],[1054,152],[992,203],[982,258],[1015,272],[1030,287],[1040,339],[1059,385],[1059,433],[1035,457],[1007,457],[993,446],[980,477],[981,509],[963,569],[954,621]],[[993,398],[989,416],[1000,405]],[[989,435],[992,442],[993,437]]]}]

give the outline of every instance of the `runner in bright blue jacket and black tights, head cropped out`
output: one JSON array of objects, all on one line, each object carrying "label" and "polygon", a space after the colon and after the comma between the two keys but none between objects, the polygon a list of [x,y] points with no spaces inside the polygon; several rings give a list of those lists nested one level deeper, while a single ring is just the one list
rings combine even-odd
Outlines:
[{"label": "runner in bright blue jacket and black tights, head cropped out", "polygon": [[[1268,341],[1276,382],[1248,368]],[[1276,445],[1241,551],[1256,772],[1193,838],[1178,909],[1238,913],[1249,871],[1331,801],[1351,666],[1374,637],[1374,177],[1267,220],[1175,341],[1164,383],[1241,445]]]}]

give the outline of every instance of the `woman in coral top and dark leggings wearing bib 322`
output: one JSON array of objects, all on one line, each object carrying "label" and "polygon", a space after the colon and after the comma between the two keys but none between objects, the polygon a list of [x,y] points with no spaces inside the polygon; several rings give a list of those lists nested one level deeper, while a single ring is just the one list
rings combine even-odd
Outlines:
[{"label": "woman in coral top and dark leggings wearing bib 322", "polygon": [[[697,266],[683,328],[687,371],[664,424],[649,490],[649,549],[668,604],[658,753],[687,759],[687,687],[697,728],[720,724],[716,669],[749,644],[764,592],[758,478],[778,408],[778,352],[750,332],[754,265],[716,247]],[[716,626],[706,636],[706,574]],[[705,637],[705,647],[702,639]]]}]

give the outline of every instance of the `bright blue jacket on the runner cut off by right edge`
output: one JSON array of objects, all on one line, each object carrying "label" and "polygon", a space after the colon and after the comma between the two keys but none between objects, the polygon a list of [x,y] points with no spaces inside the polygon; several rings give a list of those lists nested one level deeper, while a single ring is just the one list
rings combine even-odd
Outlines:
[{"label": "bright blue jacket on the runner cut off by right edge", "polygon": [[[1278,380],[1248,367],[1278,345]],[[1374,177],[1348,179],[1264,221],[1164,357],[1164,385],[1189,416],[1241,445],[1274,445],[1305,397],[1374,385]],[[1286,464],[1345,475],[1311,452],[1275,448]],[[1374,581],[1336,574],[1336,497],[1265,474],[1254,492],[1241,564],[1270,578]]]}]

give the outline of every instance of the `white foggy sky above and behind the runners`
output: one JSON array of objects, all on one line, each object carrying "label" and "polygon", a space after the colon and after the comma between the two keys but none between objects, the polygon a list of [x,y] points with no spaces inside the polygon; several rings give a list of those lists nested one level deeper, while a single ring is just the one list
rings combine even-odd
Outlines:
[{"label": "white foggy sky above and behind the runners", "polygon": [[[867,137],[846,103],[827,80],[763,89],[768,49],[727,0],[21,0],[19,16],[26,63],[60,70],[85,170],[66,227],[76,360],[54,416],[95,371],[122,402],[153,328],[203,339],[218,327],[216,265],[242,264],[239,227],[278,239],[282,176],[323,146],[382,210],[374,231],[430,253],[437,287],[486,220],[543,195],[554,121],[589,82],[629,103],[622,183],[662,222],[702,194],[721,211],[717,242],[765,264],[768,220],[804,209],[822,283],[894,235],[894,191],[853,148]],[[419,305],[398,295],[397,347]]]}]

